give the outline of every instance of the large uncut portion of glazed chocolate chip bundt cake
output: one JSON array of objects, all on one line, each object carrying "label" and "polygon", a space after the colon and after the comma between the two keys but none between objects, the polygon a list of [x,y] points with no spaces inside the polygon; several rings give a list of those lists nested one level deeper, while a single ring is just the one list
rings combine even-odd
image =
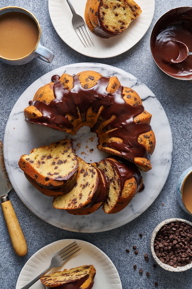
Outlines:
[{"label": "large uncut portion of glazed chocolate chip bundt cake", "polygon": [[151,169],[155,148],[151,114],[138,94],[121,86],[116,76],[95,71],[54,75],[29,104],[24,110],[27,122],[74,135],[83,125],[90,126],[98,136],[99,150],[134,162],[142,171]]}]

